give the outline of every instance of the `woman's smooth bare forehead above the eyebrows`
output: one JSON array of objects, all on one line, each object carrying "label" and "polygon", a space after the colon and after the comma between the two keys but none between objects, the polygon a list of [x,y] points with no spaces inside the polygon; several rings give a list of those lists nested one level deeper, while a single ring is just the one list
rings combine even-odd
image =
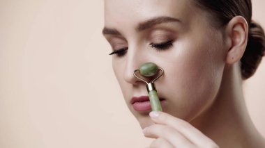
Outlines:
[{"label": "woman's smooth bare forehead above the eyebrows", "polygon": [[175,17],[185,23],[192,9],[190,0],[105,0],[105,26],[136,26],[158,16]]}]

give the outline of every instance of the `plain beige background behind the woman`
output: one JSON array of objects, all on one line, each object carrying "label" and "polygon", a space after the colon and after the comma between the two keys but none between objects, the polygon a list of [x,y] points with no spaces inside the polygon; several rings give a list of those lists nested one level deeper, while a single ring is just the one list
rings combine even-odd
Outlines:
[{"label": "plain beige background behind the woman", "polygon": [[[264,0],[253,1],[265,27]],[[103,1],[0,0],[0,147],[146,147],[101,35]],[[265,135],[265,60],[245,99]]]}]

